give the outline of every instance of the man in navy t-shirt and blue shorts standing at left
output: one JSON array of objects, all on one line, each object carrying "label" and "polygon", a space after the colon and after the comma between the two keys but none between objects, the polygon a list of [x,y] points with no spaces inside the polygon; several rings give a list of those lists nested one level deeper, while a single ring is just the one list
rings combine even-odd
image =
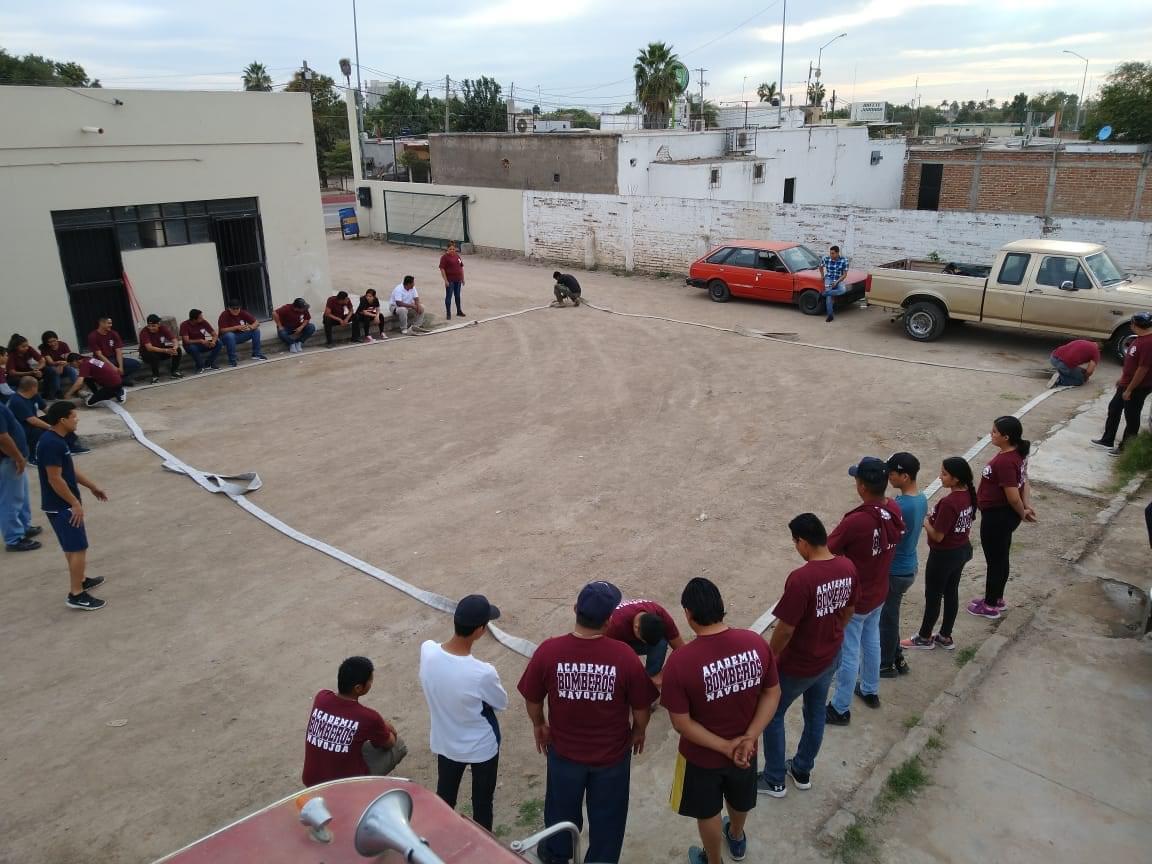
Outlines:
[{"label": "man in navy t-shirt and blue shorts standing at left", "polygon": [[84,530],[84,507],[79,487],[85,486],[97,501],[107,501],[104,490],[76,470],[66,440],[76,432],[79,415],[71,402],[56,402],[45,418],[51,426],[36,448],[36,463],[40,472],[40,508],[47,514],[52,530],[60,540],[60,548],[68,560],[68,608],[92,612],[104,608],[104,600],[89,593],[104,582],[103,576],[86,578],[88,533]]}]

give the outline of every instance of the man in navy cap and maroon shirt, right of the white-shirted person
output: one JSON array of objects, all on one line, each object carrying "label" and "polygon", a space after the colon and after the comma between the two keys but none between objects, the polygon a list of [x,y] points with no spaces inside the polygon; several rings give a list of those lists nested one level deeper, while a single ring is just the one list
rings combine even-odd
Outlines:
[{"label": "man in navy cap and maroon shirt, right of the white-shirted person", "polygon": [[[660,695],[631,649],[605,637],[619,602],[615,585],[586,584],[576,599],[575,629],[541,643],[517,684],[536,750],[548,758],[544,824],[583,827],[586,805],[585,859],[605,864],[620,861],[631,757],[644,751],[651,706]],[[539,847],[545,864],[567,862],[571,854],[567,833]]]}]

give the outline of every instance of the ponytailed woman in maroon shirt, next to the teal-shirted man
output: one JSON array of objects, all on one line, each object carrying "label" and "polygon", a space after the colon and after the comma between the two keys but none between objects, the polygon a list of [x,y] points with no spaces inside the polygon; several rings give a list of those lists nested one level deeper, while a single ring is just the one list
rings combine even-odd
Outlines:
[{"label": "ponytailed woman in maroon shirt, next to the teal-shirted man", "polygon": [[[933,649],[939,645],[952,651],[956,643],[952,628],[960,612],[960,577],[964,564],[972,560],[972,544],[968,536],[976,522],[976,483],[972,468],[960,456],[949,456],[940,469],[940,485],[948,494],[937,501],[924,520],[929,538],[929,561],[924,567],[924,620],[920,631],[903,639],[905,649]],[[932,634],[943,602],[940,631]]]}]

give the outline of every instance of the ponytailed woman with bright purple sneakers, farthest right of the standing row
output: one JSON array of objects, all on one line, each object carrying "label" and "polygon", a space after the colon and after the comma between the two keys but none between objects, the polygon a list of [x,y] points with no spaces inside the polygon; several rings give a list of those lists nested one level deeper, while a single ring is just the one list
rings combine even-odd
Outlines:
[{"label": "ponytailed woman with bright purple sneakers, farthest right of the standing row", "polygon": [[1025,441],[1024,427],[1016,417],[996,417],[992,422],[992,445],[1000,450],[984,467],[977,490],[980,509],[980,548],[988,567],[984,597],[968,604],[972,615],[1000,617],[1005,608],[1008,584],[1011,536],[1021,522],[1036,522],[1028,485],[1028,454],[1032,442]]}]

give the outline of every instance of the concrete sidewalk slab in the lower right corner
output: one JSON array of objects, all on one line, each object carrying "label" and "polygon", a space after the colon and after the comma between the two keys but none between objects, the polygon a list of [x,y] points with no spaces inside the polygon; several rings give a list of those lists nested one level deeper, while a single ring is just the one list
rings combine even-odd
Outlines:
[{"label": "concrete sidewalk slab in the lower right corner", "polygon": [[[880,828],[893,864],[1147,861],[1152,582],[1143,494],[945,727],[931,786]],[[1116,582],[1112,582],[1114,579]],[[1145,585],[1146,586],[1146,585]]]}]

